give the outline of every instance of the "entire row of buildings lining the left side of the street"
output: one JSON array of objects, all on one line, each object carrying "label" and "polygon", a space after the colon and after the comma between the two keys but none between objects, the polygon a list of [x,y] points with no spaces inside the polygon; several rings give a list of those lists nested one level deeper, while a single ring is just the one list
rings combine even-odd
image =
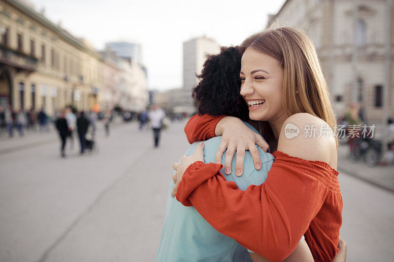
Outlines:
[{"label": "entire row of buildings lining the left side of the street", "polygon": [[66,105],[91,111],[95,105],[142,110],[147,104],[146,74],[136,61],[103,56],[32,5],[0,0],[0,33],[3,108],[43,108],[51,116]]}]

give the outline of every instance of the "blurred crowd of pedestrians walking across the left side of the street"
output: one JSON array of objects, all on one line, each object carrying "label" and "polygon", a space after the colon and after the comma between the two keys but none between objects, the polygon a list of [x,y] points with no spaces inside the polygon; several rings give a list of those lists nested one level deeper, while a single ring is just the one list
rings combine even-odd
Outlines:
[{"label": "blurred crowd of pedestrians walking across the left side of the street", "polygon": [[[62,111],[56,111],[53,116],[48,116],[42,108],[36,112],[34,108],[29,111],[24,109],[13,111],[10,105],[5,109],[0,105],[0,137],[8,133],[8,137],[14,137],[15,130],[21,137],[29,132],[49,132],[50,123],[53,123],[60,138],[60,154],[66,157],[66,143],[69,141],[70,149],[74,147],[74,139],[78,138],[80,154],[86,149],[92,150],[95,147],[95,137],[98,120],[102,120],[105,136],[110,133],[110,123],[115,111],[105,111],[101,113],[77,112],[76,109],[67,106]],[[122,114],[122,113],[121,113]],[[126,112],[123,112],[123,115]],[[151,105],[150,108],[143,110],[136,115],[139,121],[139,130],[152,129],[154,147],[159,147],[161,131],[168,126],[170,120],[182,120],[184,114],[168,114],[157,105]],[[133,118],[133,117],[131,117]],[[88,139],[87,139],[88,137]]]}]

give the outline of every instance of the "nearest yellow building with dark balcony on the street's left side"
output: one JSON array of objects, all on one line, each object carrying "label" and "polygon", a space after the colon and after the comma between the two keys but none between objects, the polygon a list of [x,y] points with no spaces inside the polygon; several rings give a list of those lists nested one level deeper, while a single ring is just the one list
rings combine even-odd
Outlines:
[{"label": "nearest yellow building with dark balcony on the street's left side", "polygon": [[0,103],[14,110],[100,102],[102,59],[80,39],[16,0],[0,1]]}]

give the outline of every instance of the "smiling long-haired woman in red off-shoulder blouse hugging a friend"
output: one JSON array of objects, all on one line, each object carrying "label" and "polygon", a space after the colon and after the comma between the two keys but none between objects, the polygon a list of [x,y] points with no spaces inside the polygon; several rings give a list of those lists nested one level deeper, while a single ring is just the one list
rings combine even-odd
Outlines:
[{"label": "smiling long-haired woman in red off-shoulder blouse hugging a friend", "polygon": [[[315,261],[331,261],[338,252],[342,197],[335,118],[315,48],[302,32],[278,28],[247,38],[241,54],[240,93],[249,117],[263,121],[261,131],[275,157],[268,177],[239,190],[219,172],[220,163],[201,162],[200,144],[174,165],[172,195],[268,260],[287,258],[304,235]],[[255,155],[254,145],[261,143],[235,117],[196,116],[191,124],[185,128],[189,141],[223,135],[216,159],[227,148],[226,174],[236,151],[236,174],[242,175],[245,150]],[[255,167],[261,167],[258,160]]]}]

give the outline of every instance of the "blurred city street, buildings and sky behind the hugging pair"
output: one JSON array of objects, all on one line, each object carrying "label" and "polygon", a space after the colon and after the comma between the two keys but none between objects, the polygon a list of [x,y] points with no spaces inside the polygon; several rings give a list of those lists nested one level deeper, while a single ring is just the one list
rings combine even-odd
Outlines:
[{"label": "blurred city street, buildings and sky behind the hugging pair", "polygon": [[205,55],[272,25],[328,81],[348,261],[392,261],[393,0],[0,0],[0,261],[153,261]]}]

